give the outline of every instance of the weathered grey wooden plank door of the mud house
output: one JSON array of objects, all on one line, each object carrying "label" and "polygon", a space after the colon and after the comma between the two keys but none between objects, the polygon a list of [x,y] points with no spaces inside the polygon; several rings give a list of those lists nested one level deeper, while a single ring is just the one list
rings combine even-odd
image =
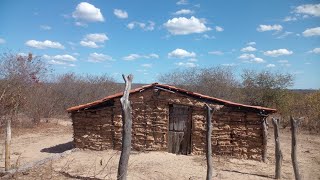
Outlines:
[{"label": "weathered grey wooden plank door of the mud house", "polygon": [[168,152],[191,153],[191,113],[191,108],[188,106],[170,105]]}]

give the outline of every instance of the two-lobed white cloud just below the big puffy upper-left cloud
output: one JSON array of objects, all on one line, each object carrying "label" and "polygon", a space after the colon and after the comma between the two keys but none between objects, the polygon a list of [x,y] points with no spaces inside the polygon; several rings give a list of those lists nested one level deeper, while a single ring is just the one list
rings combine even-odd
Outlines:
[{"label": "two-lobed white cloud just below the big puffy upper-left cloud", "polygon": [[109,38],[104,33],[87,34],[80,41],[80,45],[84,47],[90,47],[90,48],[99,48],[101,46],[98,45],[97,43],[103,44],[107,40],[109,40]]}]

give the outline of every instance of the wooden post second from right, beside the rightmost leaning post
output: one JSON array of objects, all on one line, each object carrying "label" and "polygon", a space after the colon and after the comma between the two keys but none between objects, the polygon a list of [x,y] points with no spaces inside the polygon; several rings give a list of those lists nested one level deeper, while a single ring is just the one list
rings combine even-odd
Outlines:
[{"label": "wooden post second from right, beside the rightmost leaning post", "polygon": [[280,149],[280,138],[279,138],[279,126],[280,120],[272,118],[272,124],[274,129],[274,140],[275,140],[275,156],[276,156],[276,169],[275,169],[275,178],[281,178],[281,166],[282,166],[282,152]]}]

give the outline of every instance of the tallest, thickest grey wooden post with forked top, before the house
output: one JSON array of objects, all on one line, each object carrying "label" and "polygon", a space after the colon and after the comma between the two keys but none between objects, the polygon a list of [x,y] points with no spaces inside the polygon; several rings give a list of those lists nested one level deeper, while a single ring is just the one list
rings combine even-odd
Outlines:
[{"label": "tallest, thickest grey wooden post with forked top, before the house", "polygon": [[132,114],[131,105],[129,101],[129,94],[131,89],[131,83],[133,76],[130,74],[127,77],[122,75],[125,81],[126,87],[123,92],[123,96],[120,99],[122,106],[122,145],[121,145],[121,155],[118,165],[118,175],[117,179],[126,180],[128,172],[128,162],[131,151],[131,129],[132,129]]}]

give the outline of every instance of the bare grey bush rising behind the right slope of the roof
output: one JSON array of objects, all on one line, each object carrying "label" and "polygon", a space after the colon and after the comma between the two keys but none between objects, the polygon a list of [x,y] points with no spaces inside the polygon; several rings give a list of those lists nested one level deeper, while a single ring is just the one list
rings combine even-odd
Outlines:
[{"label": "bare grey bush rising behind the right slope of the roof", "polygon": [[229,67],[175,70],[161,75],[159,81],[217,98],[240,101],[240,83]]}]

